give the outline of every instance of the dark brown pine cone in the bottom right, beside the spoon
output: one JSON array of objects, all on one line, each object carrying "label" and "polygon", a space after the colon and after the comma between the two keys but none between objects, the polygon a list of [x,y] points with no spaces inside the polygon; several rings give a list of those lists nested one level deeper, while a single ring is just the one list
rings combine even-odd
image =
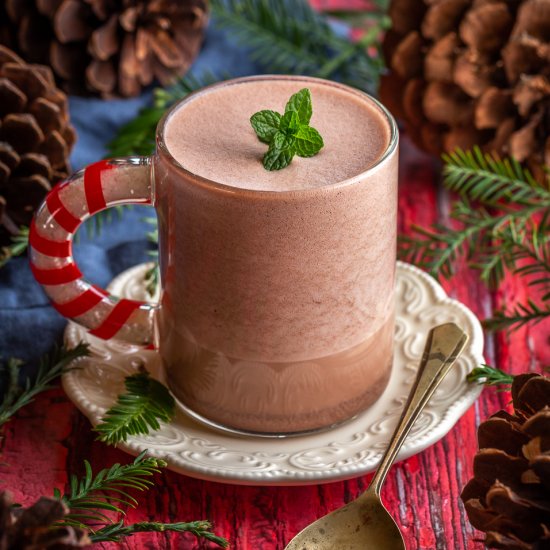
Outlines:
[{"label": "dark brown pine cone in the bottom right, beside the spoon", "polygon": [[550,548],[550,378],[512,384],[514,414],[499,411],[478,430],[474,478],[461,498],[489,548]]}]

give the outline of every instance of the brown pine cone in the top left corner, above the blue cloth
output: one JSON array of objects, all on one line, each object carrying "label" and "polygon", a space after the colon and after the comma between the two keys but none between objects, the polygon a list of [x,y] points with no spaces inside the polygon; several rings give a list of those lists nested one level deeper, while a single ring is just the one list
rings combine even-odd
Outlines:
[{"label": "brown pine cone in the top left corner, above the blue cloth", "polygon": [[50,65],[68,93],[105,98],[181,76],[207,20],[207,0],[4,1],[0,43]]}]

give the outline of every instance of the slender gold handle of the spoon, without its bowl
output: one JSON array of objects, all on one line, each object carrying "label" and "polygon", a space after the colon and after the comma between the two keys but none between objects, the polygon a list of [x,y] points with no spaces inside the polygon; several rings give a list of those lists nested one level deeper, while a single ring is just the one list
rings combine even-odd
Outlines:
[{"label": "slender gold handle of the spoon, without its bowl", "polygon": [[437,386],[460,355],[467,340],[467,334],[454,323],[434,327],[428,334],[415,383],[367,493],[374,491],[380,496],[386,475],[405,438]]}]

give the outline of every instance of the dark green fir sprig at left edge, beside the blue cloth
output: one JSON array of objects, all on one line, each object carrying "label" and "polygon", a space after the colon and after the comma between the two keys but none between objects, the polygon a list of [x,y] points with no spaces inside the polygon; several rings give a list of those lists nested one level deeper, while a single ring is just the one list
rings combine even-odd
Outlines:
[{"label": "dark green fir sprig at left edge, beside the blue cloth", "polygon": [[5,365],[0,365],[0,376],[7,378],[7,390],[0,404],[0,426],[8,422],[19,409],[31,403],[39,393],[51,389],[52,382],[66,372],[72,361],[87,355],[88,344],[81,343],[72,349],[55,348],[40,360],[34,380],[27,378],[23,387],[19,386],[22,361],[10,359]]}]

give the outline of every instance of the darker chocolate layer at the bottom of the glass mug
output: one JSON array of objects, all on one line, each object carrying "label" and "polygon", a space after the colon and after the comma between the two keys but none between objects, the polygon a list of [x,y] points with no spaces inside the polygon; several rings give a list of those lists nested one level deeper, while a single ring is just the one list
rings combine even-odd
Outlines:
[{"label": "darker chocolate layer at the bottom of the glass mug", "polygon": [[[351,349],[288,363],[230,359],[178,334],[179,353],[166,350],[163,363],[172,394],[196,420],[244,435],[304,435],[346,422],[378,400],[391,374],[393,329],[391,315]],[[164,345],[170,348],[170,339]]]}]

